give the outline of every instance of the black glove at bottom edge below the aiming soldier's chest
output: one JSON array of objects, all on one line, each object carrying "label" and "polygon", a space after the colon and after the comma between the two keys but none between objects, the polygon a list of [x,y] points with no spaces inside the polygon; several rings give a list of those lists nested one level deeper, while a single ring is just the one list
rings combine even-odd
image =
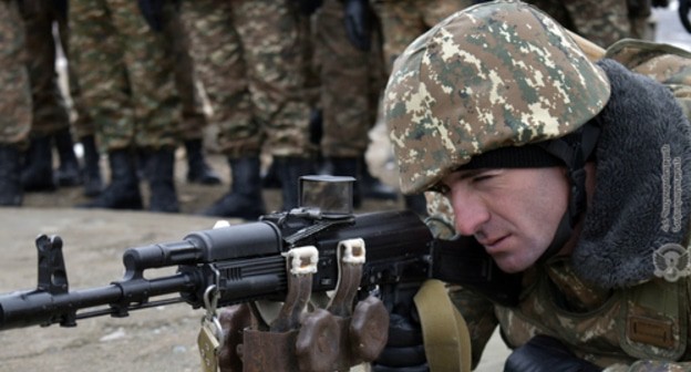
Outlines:
[{"label": "black glove at bottom edge below the aiming soldier's chest", "polygon": [[561,341],[538,334],[508,355],[504,372],[600,372],[601,368],[576,356]]}]

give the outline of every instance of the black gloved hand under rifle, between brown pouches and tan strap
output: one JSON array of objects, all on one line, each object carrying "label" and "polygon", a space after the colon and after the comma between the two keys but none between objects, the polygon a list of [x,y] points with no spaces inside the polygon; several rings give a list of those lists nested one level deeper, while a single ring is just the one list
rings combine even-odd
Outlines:
[{"label": "black gloved hand under rifle, between brown pouches and tan strap", "polygon": [[409,317],[389,317],[389,341],[379,358],[371,363],[372,372],[427,372],[422,329],[414,311]]}]

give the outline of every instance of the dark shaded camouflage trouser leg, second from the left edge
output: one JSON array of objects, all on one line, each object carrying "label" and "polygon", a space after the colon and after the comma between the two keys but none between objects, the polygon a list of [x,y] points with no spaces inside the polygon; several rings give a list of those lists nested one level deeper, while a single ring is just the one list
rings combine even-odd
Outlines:
[{"label": "dark shaded camouflage trouser leg, second from the left edge", "polygon": [[23,0],[20,12],[27,34],[27,56],[31,97],[33,100],[32,135],[47,136],[70,127],[68,107],[58,85],[53,24],[62,32],[66,20],[58,14],[52,2]]}]

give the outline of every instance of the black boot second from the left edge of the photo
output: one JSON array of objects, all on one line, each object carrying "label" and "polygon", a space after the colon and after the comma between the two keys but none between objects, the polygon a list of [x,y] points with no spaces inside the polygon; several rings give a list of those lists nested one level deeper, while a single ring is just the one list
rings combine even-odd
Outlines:
[{"label": "black boot second from the left edge of the photo", "polygon": [[55,189],[50,136],[31,138],[29,151],[24,157],[21,183],[25,192],[52,192]]}]

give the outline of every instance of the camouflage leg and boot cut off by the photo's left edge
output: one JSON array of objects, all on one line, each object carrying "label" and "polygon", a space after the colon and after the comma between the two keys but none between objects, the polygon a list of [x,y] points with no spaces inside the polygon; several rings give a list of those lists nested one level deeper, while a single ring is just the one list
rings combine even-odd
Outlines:
[{"label": "camouflage leg and boot cut off by the photo's left edge", "polygon": [[20,206],[20,154],[31,131],[31,92],[14,1],[0,1],[0,206]]}]

